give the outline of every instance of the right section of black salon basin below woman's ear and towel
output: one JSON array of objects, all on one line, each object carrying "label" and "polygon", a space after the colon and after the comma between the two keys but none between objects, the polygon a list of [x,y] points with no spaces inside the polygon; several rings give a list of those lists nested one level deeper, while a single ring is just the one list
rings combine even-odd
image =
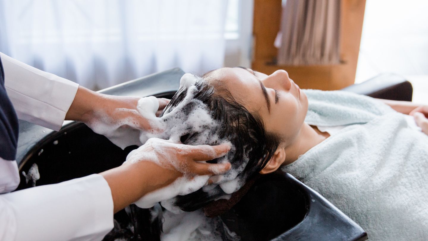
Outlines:
[{"label": "right section of black salon basin below woman's ear and towel", "polygon": [[222,220],[245,241],[363,241],[367,234],[292,175],[262,175]]}]

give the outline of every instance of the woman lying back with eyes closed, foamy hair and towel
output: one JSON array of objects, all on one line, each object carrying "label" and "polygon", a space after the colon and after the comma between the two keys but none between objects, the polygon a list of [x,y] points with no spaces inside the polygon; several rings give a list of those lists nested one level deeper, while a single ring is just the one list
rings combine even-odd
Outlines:
[{"label": "woman lying back with eyes closed, foamy hair and towel", "polygon": [[[410,112],[410,107],[393,107]],[[231,145],[213,162],[230,162],[232,169],[199,190],[203,184],[193,185],[197,180],[175,184],[169,191],[179,196],[161,202],[169,211],[196,210],[228,198],[256,173],[282,169],[356,221],[370,240],[428,237],[428,136],[412,116],[380,100],[300,90],[283,70],[265,75],[222,68],[202,77],[184,75],[163,116],[152,117],[152,126],[164,132],[143,133],[142,143],[158,137]],[[136,204],[149,208],[150,199]]]}]

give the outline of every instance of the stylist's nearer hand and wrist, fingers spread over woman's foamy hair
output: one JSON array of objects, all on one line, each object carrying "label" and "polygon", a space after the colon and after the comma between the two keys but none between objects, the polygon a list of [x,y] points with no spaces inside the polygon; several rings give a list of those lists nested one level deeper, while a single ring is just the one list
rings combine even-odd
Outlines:
[{"label": "stylist's nearer hand and wrist, fingers spread over woman's foamy hair", "polygon": [[179,187],[175,186],[162,195],[150,195],[154,190],[172,184],[177,178],[200,179],[199,183],[193,183],[197,186],[196,191],[210,176],[229,170],[230,163],[201,162],[222,157],[229,150],[230,145],[227,144],[190,146],[152,138],[132,151],[122,166],[102,172],[101,175],[112,191],[115,212],[137,200],[140,206],[150,207],[180,194]]}]

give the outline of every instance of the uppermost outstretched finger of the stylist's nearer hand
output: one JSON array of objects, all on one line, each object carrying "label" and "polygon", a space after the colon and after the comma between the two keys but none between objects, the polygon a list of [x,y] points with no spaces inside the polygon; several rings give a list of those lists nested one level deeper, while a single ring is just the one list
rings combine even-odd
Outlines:
[{"label": "uppermost outstretched finger of the stylist's nearer hand", "polygon": [[195,161],[208,161],[223,157],[229,150],[230,145],[225,143],[216,146],[199,145],[191,146],[189,155]]}]

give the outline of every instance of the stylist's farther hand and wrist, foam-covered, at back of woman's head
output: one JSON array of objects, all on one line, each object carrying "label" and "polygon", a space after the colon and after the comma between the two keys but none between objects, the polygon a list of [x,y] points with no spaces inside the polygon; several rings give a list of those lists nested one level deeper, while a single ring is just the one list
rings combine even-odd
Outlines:
[{"label": "stylist's farther hand and wrist, foam-covered, at back of woman's head", "polygon": [[[140,98],[112,96],[79,87],[65,120],[81,121],[95,133],[106,136],[121,148],[141,145],[139,130],[152,131],[150,121],[137,110]],[[159,98],[158,116],[169,99]],[[161,131],[161,130],[153,130]]]}]

